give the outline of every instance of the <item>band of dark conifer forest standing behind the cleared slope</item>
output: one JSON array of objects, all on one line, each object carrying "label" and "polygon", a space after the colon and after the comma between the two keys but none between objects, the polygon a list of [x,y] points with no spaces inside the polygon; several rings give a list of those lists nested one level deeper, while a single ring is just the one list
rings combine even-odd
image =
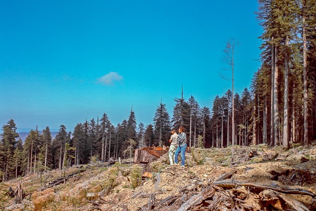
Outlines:
[{"label": "band of dark conifer forest standing behind the cleared slope", "polygon": [[168,145],[171,129],[180,125],[186,128],[190,147],[308,146],[316,139],[315,14],[315,0],[259,0],[262,65],[250,90],[233,95],[228,89],[215,97],[212,108],[201,108],[193,96],[182,96],[174,99],[172,117],[160,103],[154,123],[147,126],[137,125],[133,110],[116,126],[103,114],[77,124],[73,133],[61,125],[54,138],[49,127],[41,133],[31,130],[24,144],[14,120],[9,120],[0,139],[0,181],[110,157],[127,158],[139,147]]}]

